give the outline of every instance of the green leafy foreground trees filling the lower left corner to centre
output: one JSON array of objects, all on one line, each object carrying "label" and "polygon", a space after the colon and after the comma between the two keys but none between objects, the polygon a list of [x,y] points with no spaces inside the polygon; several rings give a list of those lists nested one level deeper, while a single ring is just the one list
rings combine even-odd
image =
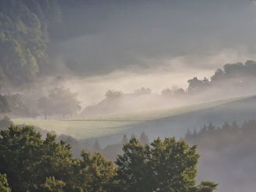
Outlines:
[{"label": "green leafy foreground trees filling the lower left corner to centre", "polygon": [[48,134],[43,140],[31,126],[0,132],[0,172],[12,191],[106,191],[116,174],[99,153],[73,158],[71,147]]}]

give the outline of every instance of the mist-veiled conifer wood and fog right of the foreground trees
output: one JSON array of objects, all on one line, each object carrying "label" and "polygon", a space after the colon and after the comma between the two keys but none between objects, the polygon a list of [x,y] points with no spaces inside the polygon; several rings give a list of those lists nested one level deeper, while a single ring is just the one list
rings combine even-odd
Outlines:
[{"label": "mist-veiled conifer wood and fog right of the foreground trees", "polygon": [[197,145],[202,155],[199,179],[208,178],[222,182],[220,191],[254,191],[256,120],[242,124],[209,124],[188,131],[184,138],[190,145]]}]

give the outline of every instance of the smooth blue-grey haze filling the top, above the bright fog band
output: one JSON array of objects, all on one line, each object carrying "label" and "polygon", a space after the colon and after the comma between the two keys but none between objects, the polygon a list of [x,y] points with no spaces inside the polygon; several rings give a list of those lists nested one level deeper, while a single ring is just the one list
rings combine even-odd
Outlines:
[{"label": "smooth blue-grey haze filling the top, above the bright fog band", "polygon": [[77,13],[79,24],[92,32],[62,42],[58,55],[80,74],[148,69],[162,59],[241,47],[250,55],[256,48],[256,9],[249,0],[109,1],[89,4],[83,11]]}]

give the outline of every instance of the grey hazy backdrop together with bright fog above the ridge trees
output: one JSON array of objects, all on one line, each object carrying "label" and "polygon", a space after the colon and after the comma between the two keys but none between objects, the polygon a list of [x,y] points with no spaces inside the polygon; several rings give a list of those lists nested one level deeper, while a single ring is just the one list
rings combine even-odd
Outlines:
[{"label": "grey hazy backdrop together with bright fog above the ridge trees", "polygon": [[95,89],[186,86],[226,63],[256,59],[252,0],[94,1],[70,15],[88,33],[61,42],[57,58],[93,76],[86,82]]}]

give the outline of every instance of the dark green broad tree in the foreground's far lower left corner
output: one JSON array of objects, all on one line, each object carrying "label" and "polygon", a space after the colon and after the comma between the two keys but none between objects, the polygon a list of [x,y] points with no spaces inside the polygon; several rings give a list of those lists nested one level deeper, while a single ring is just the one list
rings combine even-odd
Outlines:
[{"label": "dark green broad tree in the foreground's far lower left corner", "polygon": [[38,191],[47,177],[69,180],[72,154],[56,136],[31,126],[10,126],[0,131],[0,172],[7,174],[12,191]]}]

